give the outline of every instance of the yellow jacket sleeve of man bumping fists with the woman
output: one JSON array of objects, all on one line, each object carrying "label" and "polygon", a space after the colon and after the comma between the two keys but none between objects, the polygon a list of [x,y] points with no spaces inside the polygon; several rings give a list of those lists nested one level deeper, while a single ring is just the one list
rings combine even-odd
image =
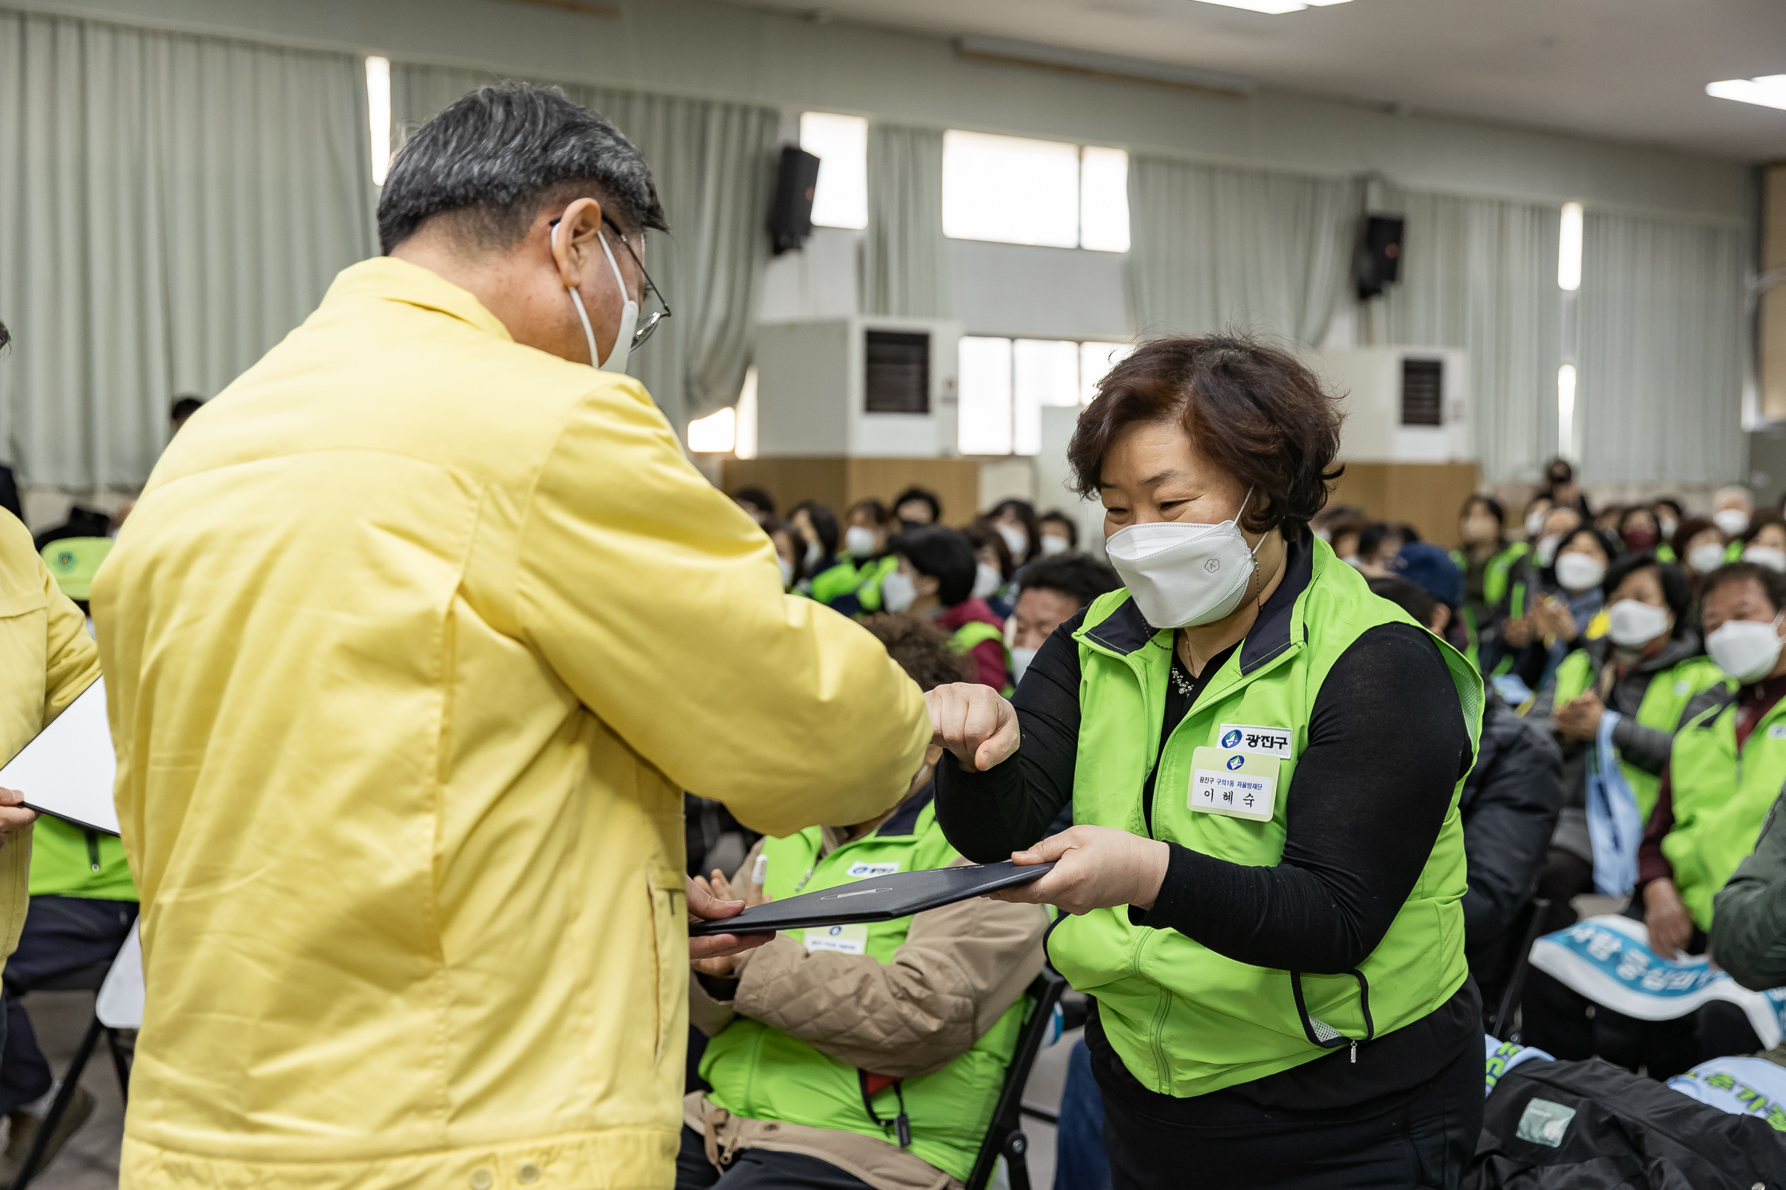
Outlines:
[{"label": "yellow jacket sleeve of man bumping fists with the woman", "polygon": [[754,830],[866,821],[923,762],[916,683],[859,624],[782,594],[768,537],[632,382],[570,414],[518,562],[522,628],[577,698]]}]

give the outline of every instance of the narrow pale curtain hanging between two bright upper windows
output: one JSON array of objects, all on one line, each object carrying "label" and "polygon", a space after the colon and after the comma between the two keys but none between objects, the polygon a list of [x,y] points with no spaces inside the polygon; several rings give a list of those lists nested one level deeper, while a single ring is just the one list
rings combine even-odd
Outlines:
[{"label": "narrow pale curtain hanging between two bright upper windows", "polygon": [[947,318],[948,280],[943,134],[870,121],[863,312]]}]

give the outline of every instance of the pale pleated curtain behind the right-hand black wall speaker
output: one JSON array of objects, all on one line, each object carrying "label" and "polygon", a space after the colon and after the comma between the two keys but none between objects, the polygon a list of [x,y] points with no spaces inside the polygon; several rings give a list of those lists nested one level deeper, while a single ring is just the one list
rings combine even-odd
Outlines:
[{"label": "pale pleated curtain behind the right-hand black wall speaker", "polygon": [[1370,343],[1463,348],[1482,480],[1534,480],[1557,450],[1561,209],[1388,189],[1400,212],[1400,280],[1365,305]]}]

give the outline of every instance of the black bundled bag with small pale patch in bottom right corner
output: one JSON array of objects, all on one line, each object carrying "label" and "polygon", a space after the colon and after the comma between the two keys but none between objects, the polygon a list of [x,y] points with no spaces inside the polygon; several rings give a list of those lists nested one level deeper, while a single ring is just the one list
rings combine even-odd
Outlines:
[{"label": "black bundled bag with small pale patch in bottom right corner", "polygon": [[1786,1133],[1600,1062],[1523,1062],[1488,1097],[1466,1190],[1786,1190]]}]

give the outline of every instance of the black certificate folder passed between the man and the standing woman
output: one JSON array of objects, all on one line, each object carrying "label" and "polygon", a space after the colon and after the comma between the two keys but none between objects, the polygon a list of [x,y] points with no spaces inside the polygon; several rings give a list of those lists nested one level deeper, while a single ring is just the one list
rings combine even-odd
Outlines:
[{"label": "black certificate folder passed between the man and the standing woman", "polygon": [[725,921],[691,922],[688,933],[691,938],[707,938],[720,933],[773,933],[777,930],[895,921],[998,888],[1027,885],[1052,867],[1054,864],[1018,867],[1011,860],[1004,860],[973,867],[932,867],[922,872],[870,876],[823,892],[804,892],[786,901],[757,905]]}]

